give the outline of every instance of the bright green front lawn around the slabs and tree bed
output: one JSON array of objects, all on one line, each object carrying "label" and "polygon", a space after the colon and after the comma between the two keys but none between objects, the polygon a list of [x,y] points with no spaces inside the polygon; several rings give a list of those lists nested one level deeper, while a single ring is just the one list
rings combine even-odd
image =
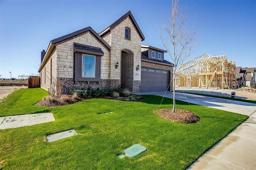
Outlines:
[{"label": "bright green front lawn around the slabs and tree bed", "polygon": [[[177,101],[201,118],[196,124],[158,117],[171,99],[145,96],[138,102],[89,99],[61,107],[33,106],[47,92],[20,89],[0,104],[0,116],[51,111],[55,122],[0,130],[3,169],[185,169],[247,116]],[[114,111],[111,114],[98,114]],[[78,135],[48,143],[46,135],[75,129]],[[117,154],[134,143],[148,148],[134,158]]]}]

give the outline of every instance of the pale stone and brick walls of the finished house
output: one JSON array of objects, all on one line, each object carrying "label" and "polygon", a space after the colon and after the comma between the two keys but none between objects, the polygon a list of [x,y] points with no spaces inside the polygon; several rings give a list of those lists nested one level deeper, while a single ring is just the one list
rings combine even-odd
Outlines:
[{"label": "pale stone and brick walls of the finished house", "polygon": [[[85,31],[54,44],[49,60],[40,70],[41,87],[49,90],[55,84],[55,94],[89,87],[102,89],[122,86],[131,91],[140,91],[141,69],[137,70],[138,65],[140,68],[172,70],[171,66],[141,61],[142,38],[134,22],[129,15],[118,22],[102,37],[111,49],[93,31]],[[125,28],[130,29],[130,39],[125,39]],[[104,55],[101,56],[100,81],[74,82],[74,43],[101,48]],[[116,68],[117,62],[119,66]],[[60,84],[62,90],[57,88]]]}]

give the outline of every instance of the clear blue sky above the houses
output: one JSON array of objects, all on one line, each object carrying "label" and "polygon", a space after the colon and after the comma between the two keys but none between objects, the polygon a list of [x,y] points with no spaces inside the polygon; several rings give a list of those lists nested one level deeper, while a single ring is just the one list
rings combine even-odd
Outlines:
[{"label": "clear blue sky above the houses", "polygon": [[[228,55],[237,66],[256,67],[256,1],[180,1],[188,25],[197,31],[188,61],[205,53]],[[50,40],[91,26],[107,28],[131,11],[145,36],[143,45],[164,48],[159,28],[171,1],[3,1],[0,0],[1,78],[36,75],[41,50]],[[165,59],[169,60],[167,54]]]}]

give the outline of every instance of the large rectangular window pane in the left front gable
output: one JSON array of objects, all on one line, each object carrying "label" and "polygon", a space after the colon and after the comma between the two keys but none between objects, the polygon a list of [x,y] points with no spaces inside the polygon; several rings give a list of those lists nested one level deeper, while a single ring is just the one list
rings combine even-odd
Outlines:
[{"label": "large rectangular window pane in the left front gable", "polygon": [[82,55],[82,77],[95,78],[95,56]]}]

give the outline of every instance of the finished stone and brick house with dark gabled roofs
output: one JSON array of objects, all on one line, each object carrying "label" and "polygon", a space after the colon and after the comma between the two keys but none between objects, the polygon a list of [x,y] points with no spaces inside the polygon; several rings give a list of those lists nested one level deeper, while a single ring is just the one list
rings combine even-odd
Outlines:
[{"label": "finished stone and brick house with dark gabled roofs", "polygon": [[53,39],[41,52],[41,87],[54,94],[89,87],[170,90],[173,64],[164,60],[166,51],[143,40],[130,11],[100,33],[86,27]]}]

